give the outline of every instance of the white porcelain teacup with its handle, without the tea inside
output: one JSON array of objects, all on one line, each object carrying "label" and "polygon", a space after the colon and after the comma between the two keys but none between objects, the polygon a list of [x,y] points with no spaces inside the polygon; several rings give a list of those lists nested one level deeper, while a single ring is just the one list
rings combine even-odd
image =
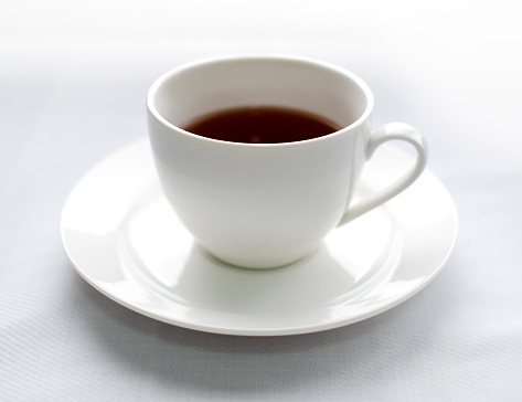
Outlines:
[{"label": "white porcelain teacup with its handle, without the tea inside", "polygon": [[[332,229],[406,189],[426,165],[425,139],[412,126],[372,130],[373,96],[361,78],[308,59],[238,56],[183,65],[153,83],[147,105],[167,199],[196,242],[242,267],[277,267],[308,255]],[[181,128],[244,106],[300,109],[343,128],[285,144],[228,142]],[[388,140],[411,144],[415,163],[352,205],[364,163]]]}]

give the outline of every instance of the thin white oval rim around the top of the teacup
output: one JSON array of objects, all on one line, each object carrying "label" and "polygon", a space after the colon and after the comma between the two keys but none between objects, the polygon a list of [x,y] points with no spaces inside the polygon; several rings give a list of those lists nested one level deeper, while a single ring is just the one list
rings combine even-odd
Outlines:
[{"label": "thin white oval rim around the top of the teacup", "polygon": [[[213,64],[213,63],[221,63],[221,62],[227,62],[227,61],[254,61],[254,60],[259,60],[259,61],[289,61],[289,62],[301,62],[301,63],[308,63],[308,64],[313,64],[316,66],[322,67],[324,70],[333,71],[339,74],[342,74],[347,76],[348,78],[352,80],[363,92],[365,98],[366,98],[366,105],[364,108],[364,112],[350,125],[342,127],[341,129],[328,134],[326,136],[321,137],[316,137],[316,138],[310,138],[310,139],[305,139],[300,141],[290,141],[290,142],[273,142],[273,144],[253,144],[253,142],[233,142],[233,141],[225,141],[222,139],[214,139],[214,138],[209,138],[204,136],[196,135],[194,133],[188,131],[169,120],[167,120],[158,110],[158,108],[155,105],[155,96],[158,92],[158,89],[167,82],[170,77],[179,74],[182,71],[190,70],[200,65],[204,64]],[[337,137],[345,131],[353,130],[356,127],[361,126],[364,121],[366,121],[373,110],[373,105],[374,105],[374,98],[373,94],[367,86],[367,84],[359,77],[356,74],[352,73],[349,70],[345,70],[339,65],[335,65],[333,63],[320,61],[317,59],[311,59],[311,57],[305,57],[305,56],[297,56],[297,55],[279,55],[279,54],[247,54],[247,55],[225,55],[225,56],[215,56],[215,57],[206,57],[206,59],[200,59],[196,61],[192,61],[189,63],[183,63],[177,67],[173,67],[166,73],[161,74],[156,81],[152,83],[150,86],[148,93],[147,93],[147,108],[150,113],[151,116],[153,116],[159,123],[161,123],[163,126],[166,126],[169,129],[174,129],[177,131],[182,133],[185,136],[189,136],[194,139],[203,140],[203,141],[210,141],[214,144],[220,144],[220,145],[227,145],[232,147],[248,147],[248,148],[274,148],[274,147],[295,147],[298,145],[302,144],[310,144],[315,141],[320,141],[320,140],[326,140],[331,137]]]}]

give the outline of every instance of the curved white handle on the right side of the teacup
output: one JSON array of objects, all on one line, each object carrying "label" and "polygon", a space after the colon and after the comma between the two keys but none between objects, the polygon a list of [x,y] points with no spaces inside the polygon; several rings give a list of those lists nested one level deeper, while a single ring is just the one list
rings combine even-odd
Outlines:
[{"label": "curved white handle on the right side of the teacup", "polygon": [[359,201],[355,205],[348,208],[347,212],[339,222],[339,226],[354,220],[355,218],[366,213],[375,207],[386,202],[391,198],[397,195],[412,184],[423,172],[428,158],[428,147],[426,139],[412,127],[404,123],[391,123],[379,127],[370,137],[366,146],[366,159],[370,159],[381,145],[387,141],[400,140],[412,145],[417,152],[415,165],[404,176],[395,180],[386,188],[369,195],[366,199]]}]

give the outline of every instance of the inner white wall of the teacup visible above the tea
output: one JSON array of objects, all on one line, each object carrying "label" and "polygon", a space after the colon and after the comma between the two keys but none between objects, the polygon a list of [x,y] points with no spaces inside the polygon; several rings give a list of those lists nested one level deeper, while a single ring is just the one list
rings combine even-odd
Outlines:
[{"label": "inner white wall of the teacup visible above the tea", "polygon": [[364,119],[372,103],[367,86],[342,68],[277,56],[189,64],[158,78],[148,98],[157,118],[181,128],[203,115],[246,106],[300,109],[348,127]]}]

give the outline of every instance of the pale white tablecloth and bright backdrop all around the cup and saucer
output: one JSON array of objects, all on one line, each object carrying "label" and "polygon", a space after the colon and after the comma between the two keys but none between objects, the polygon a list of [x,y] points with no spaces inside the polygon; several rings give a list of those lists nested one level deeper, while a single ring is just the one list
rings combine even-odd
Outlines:
[{"label": "pale white tablecloth and bright backdrop all around the cup and saucer", "polygon": [[[50,0],[0,12],[0,400],[522,400],[522,29],[514,1]],[[67,194],[147,136],[151,82],[276,52],[352,70],[417,126],[459,211],[424,290],[324,332],[245,338],[132,313],[60,237]]]}]

